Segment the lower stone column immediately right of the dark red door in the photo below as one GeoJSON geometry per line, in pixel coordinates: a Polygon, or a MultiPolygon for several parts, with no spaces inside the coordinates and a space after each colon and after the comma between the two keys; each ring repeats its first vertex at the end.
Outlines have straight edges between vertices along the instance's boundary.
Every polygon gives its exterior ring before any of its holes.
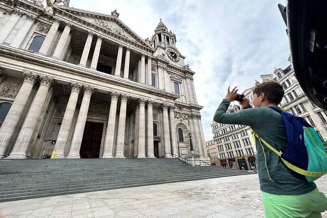
{"type": "Polygon", "coordinates": [[[112,150],[113,150],[113,138],[114,138],[115,126],[116,126],[118,97],[119,94],[117,92],[111,92],[111,103],[110,103],[108,127],[106,133],[106,142],[105,142],[105,149],[102,158],[113,158],[112,150]]]}

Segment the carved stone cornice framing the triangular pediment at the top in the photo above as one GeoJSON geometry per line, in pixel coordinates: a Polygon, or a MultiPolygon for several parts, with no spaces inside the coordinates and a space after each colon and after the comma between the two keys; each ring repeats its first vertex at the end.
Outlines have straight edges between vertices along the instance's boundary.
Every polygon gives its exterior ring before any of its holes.
{"type": "MultiPolygon", "coordinates": [[[[143,39],[141,39],[136,33],[134,33],[133,31],[131,31],[123,22],[121,22],[119,19],[117,19],[114,16],[106,16],[103,14],[98,14],[98,13],[94,13],[92,12],[92,14],[90,14],[87,11],[82,11],[82,10],[76,10],[73,8],[69,8],[68,11],[65,11],[63,7],[61,6],[53,6],[53,10],[56,13],[57,16],[61,15],[63,17],[63,19],[71,19],[71,21],[75,22],[74,24],[79,24],[81,29],[85,29],[85,27],[87,28],[93,28],[94,30],[99,31],[102,35],[105,35],[106,37],[108,37],[111,41],[119,43],[119,42],[124,42],[126,43],[126,45],[129,45],[130,47],[132,46],[135,50],[138,50],[139,52],[147,52],[148,54],[153,54],[154,49],[147,44],[143,39]],[[80,11],[80,12],[79,12],[80,11]],[[78,13],[79,12],[79,13],[78,13]],[[83,13],[82,13],[83,12],[83,13]],[[139,42],[133,42],[123,36],[120,36],[114,32],[111,32],[99,25],[96,25],[92,22],[89,22],[87,20],[84,20],[83,18],[80,18],[77,16],[78,15],[89,15],[90,17],[94,18],[94,19],[101,19],[101,20],[105,20],[105,21],[112,21],[115,22],[116,24],[118,24],[121,28],[123,28],[126,32],[128,32],[129,34],[133,35],[133,37],[137,38],[139,40],[139,42]],[[78,22],[78,23],[76,23],[78,22]],[[140,44],[143,43],[143,44],[140,44]]],[[[88,29],[87,29],[88,30],[88,29]]],[[[93,30],[93,31],[94,31],[93,30]]]]}

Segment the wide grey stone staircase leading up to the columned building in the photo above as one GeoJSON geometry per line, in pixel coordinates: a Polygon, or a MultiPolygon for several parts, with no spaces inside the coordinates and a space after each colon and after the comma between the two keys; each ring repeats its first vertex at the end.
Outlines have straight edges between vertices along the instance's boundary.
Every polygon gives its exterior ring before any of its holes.
{"type": "Polygon", "coordinates": [[[252,174],[175,158],[2,159],[0,202],[252,174]]]}

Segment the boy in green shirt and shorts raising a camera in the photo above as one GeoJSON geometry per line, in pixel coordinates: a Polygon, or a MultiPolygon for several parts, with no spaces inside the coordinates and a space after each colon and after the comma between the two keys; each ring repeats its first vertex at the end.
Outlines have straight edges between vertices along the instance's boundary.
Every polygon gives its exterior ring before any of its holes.
{"type": "MultiPolygon", "coordinates": [[[[224,124],[250,126],[262,139],[278,151],[287,147],[282,116],[268,107],[277,107],[284,96],[283,86],[273,80],[257,84],[253,89],[253,105],[243,98],[243,110],[226,113],[238,89],[228,87],[225,99],[219,105],[214,121],[224,124]]],[[[321,218],[327,210],[327,198],[314,182],[294,177],[280,157],[256,140],[256,166],[259,175],[262,204],[266,218],[321,218]]]]}

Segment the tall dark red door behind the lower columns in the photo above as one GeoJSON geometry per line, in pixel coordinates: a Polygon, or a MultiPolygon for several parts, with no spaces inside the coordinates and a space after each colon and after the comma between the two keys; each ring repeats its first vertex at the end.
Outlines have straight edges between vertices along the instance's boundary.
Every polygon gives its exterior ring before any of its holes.
{"type": "Polygon", "coordinates": [[[103,123],[90,123],[85,125],[81,144],[81,158],[99,158],[103,123]]]}

